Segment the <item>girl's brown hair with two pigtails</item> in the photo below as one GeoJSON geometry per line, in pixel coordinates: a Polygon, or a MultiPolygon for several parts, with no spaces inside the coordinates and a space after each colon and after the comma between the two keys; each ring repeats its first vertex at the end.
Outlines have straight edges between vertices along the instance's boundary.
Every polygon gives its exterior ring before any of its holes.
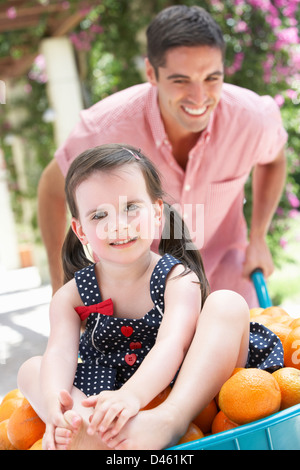
{"type": "MultiPolygon", "coordinates": [[[[79,218],[75,192],[83,181],[97,171],[109,172],[127,164],[136,165],[140,169],[153,202],[164,199],[160,175],[153,163],[140,150],[129,145],[102,145],[81,153],[69,168],[65,192],[71,216],[79,218]]],[[[161,255],[169,253],[179,259],[185,267],[183,275],[190,271],[195,272],[199,278],[202,302],[204,302],[209,293],[209,285],[199,250],[193,245],[188,229],[178,212],[167,203],[164,203],[164,215],[165,224],[159,244],[159,253],[161,255]],[[179,232],[181,236],[178,237],[179,232]]],[[[62,261],[65,282],[73,279],[76,271],[92,264],[71,227],[63,245],[62,261]]]]}

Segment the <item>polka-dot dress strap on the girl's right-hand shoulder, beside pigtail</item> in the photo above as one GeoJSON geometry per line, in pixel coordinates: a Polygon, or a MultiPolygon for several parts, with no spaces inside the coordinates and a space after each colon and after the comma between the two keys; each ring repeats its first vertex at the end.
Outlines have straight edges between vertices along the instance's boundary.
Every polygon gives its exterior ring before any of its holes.
{"type": "Polygon", "coordinates": [[[166,288],[167,276],[171,269],[181,264],[177,258],[166,253],[156,264],[150,280],[151,298],[158,310],[164,311],[164,293],[166,288]]]}

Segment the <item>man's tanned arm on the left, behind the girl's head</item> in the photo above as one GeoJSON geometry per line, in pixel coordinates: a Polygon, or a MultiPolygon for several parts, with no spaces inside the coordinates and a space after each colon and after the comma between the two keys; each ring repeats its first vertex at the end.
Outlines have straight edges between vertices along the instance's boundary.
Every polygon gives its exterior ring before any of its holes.
{"type": "Polygon", "coordinates": [[[46,248],[53,293],[63,284],[61,248],[66,234],[65,180],[56,162],[45,168],[38,187],[39,226],[46,248]]]}

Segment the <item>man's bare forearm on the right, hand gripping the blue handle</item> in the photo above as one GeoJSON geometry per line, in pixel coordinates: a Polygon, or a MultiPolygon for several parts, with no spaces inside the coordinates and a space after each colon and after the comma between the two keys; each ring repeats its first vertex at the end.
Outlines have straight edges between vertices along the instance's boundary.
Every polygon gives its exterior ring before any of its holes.
{"type": "Polygon", "coordinates": [[[257,165],[253,172],[253,205],[243,275],[249,277],[261,268],[265,277],[272,274],[274,265],[266,243],[266,235],[277,209],[286,181],[286,158],[282,149],[277,158],[266,165],[257,165]]]}

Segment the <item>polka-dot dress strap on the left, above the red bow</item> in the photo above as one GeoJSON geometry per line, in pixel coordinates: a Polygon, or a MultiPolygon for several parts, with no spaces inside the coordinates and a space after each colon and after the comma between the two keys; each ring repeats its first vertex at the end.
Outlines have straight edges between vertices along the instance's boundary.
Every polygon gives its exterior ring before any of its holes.
{"type": "Polygon", "coordinates": [[[75,273],[77,289],[84,305],[93,305],[102,301],[95,266],[91,264],[75,273]]]}

